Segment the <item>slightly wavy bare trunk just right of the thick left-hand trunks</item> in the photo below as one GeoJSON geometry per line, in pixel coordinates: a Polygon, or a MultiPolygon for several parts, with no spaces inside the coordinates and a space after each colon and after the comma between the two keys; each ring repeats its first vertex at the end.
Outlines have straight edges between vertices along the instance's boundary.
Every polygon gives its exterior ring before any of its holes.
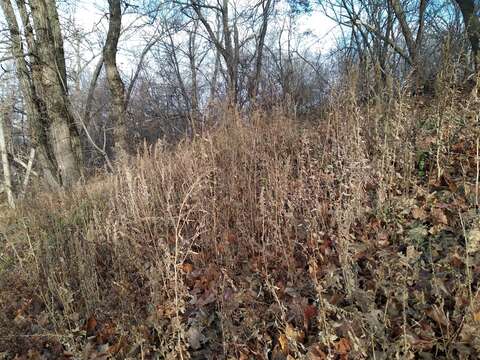
{"type": "Polygon", "coordinates": [[[108,0],[110,19],[103,60],[107,73],[108,86],[112,96],[110,118],[114,126],[114,139],[117,155],[127,154],[127,128],[125,121],[125,85],[117,67],[117,47],[122,29],[122,10],[120,0],[108,0]]]}

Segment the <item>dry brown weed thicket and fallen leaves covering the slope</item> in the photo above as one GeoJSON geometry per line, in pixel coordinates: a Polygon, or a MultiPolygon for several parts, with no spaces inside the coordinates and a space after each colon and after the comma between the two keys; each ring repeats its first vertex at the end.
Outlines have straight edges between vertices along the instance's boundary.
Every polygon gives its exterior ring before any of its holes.
{"type": "Polygon", "coordinates": [[[2,218],[0,353],[478,358],[479,103],[441,89],[225,111],[28,199],[2,218]]]}

